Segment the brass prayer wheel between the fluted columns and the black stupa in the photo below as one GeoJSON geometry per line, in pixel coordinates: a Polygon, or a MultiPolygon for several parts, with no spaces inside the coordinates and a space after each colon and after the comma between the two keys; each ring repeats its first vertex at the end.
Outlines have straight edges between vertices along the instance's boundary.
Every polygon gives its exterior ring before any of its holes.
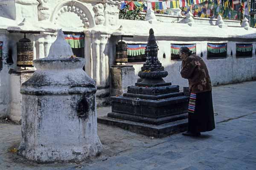
{"type": "Polygon", "coordinates": [[[123,41],[116,44],[116,62],[128,62],[127,44],[123,41]]]}

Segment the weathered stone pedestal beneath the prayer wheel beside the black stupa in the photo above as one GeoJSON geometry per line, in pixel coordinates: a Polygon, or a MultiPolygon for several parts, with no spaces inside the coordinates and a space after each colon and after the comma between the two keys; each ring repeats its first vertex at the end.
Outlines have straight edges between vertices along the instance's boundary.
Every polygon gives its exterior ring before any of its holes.
{"type": "Polygon", "coordinates": [[[122,95],[127,92],[129,85],[136,82],[134,67],[132,65],[111,66],[111,96],[122,95]]]}

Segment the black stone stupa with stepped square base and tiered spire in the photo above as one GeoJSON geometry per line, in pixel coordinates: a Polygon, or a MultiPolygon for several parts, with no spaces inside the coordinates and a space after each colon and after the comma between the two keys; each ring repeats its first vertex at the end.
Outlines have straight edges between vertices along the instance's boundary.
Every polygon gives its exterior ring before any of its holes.
{"type": "Polygon", "coordinates": [[[186,130],[189,97],[178,85],[165,82],[168,75],[157,58],[154,31],[149,30],[147,56],[135,86],[123,96],[111,97],[112,112],[98,118],[99,123],[116,125],[147,136],[163,137],[186,130]]]}

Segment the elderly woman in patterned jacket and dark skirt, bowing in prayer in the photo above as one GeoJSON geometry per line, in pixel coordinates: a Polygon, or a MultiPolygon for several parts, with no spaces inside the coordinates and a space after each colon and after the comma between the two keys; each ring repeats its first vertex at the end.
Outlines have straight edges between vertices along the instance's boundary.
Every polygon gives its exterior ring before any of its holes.
{"type": "Polygon", "coordinates": [[[189,48],[181,47],[179,51],[182,59],[181,77],[189,79],[189,124],[186,136],[200,136],[215,128],[212,85],[207,66],[201,57],[192,54],[189,48]]]}

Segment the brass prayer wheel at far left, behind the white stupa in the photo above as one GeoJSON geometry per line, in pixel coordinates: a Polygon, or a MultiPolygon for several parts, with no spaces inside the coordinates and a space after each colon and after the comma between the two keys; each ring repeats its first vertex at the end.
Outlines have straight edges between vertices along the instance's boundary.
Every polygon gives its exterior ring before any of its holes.
{"type": "Polygon", "coordinates": [[[17,66],[19,67],[32,67],[34,57],[33,42],[26,38],[20,39],[17,42],[17,66]]]}

